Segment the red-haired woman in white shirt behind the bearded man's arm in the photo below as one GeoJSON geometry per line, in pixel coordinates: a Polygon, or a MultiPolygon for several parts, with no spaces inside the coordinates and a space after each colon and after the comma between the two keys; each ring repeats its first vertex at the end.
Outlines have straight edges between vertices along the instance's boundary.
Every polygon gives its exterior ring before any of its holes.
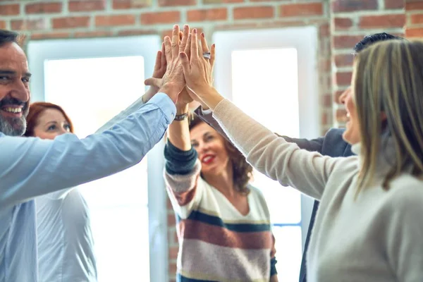
{"type": "MultiPolygon", "coordinates": [[[[73,133],[73,125],[60,106],[30,105],[25,136],[54,139],[65,133],[73,133]]],[[[35,202],[39,282],[97,281],[90,214],[78,188],[52,192],[35,202]]]]}

